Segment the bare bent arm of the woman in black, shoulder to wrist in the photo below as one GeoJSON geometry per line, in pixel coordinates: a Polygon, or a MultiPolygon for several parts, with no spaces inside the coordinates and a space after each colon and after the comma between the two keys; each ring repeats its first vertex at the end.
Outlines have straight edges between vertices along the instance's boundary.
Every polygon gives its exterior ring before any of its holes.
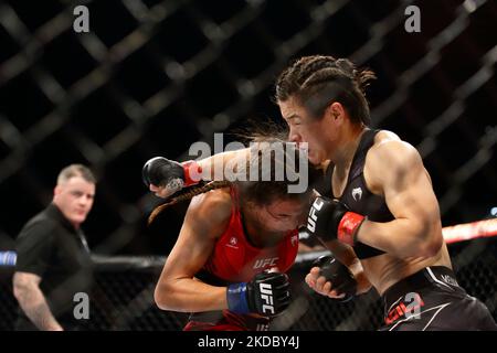
{"type": "Polygon", "coordinates": [[[419,152],[400,140],[380,143],[368,153],[364,178],[395,220],[367,220],[356,239],[401,258],[435,255],[443,244],[440,210],[419,152]]]}

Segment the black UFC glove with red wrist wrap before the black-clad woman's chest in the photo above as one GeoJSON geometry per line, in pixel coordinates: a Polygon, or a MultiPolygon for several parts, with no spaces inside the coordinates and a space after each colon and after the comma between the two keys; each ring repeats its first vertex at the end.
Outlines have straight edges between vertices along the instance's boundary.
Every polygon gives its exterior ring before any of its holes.
{"type": "Polygon", "coordinates": [[[338,200],[317,197],[309,211],[307,231],[321,240],[338,239],[353,246],[356,234],[364,221],[364,216],[350,212],[338,200]]]}

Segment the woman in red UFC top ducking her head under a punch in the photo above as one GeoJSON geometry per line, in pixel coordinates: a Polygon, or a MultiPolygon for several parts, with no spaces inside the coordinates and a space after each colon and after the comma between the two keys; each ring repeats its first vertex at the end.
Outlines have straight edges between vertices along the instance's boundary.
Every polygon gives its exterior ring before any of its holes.
{"type": "Polygon", "coordinates": [[[288,184],[214,181],[180,196],[195,195],[155,300],[162,310],[192,312],[184,330],[267,330],[271,318],[288,307],[285,271],[311,201],[310,191],[288,193],[288,184]]]}

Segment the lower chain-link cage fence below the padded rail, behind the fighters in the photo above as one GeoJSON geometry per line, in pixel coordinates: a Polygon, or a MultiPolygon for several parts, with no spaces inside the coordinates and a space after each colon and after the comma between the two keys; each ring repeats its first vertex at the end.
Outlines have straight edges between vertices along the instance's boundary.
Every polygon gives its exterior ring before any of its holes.
{"type": "MultiPolygon", "coordinates": [[[[453,266],[459,285],[480,299],[497,320],[497,265],[495,239],[475,239],[469,244],[451,245],[453,266]]],[[[273,330],[356,331],[377,330],[383,323],[383,304],[374,290],[352,301],[338,302],[313,293],[303,279],[318,253],[300,255],[289,272],[293,303],[278,317],[273,330]]],[[[162,331],[181,330],[187,313],[161,311],[154,302],[154,289],[163,258],[115,257],[97,261],[96,285],[91,295],[88,330],[162,331]]],[[[17,302],[2,270],[0,330],[12,330],[17,302]]]]}

